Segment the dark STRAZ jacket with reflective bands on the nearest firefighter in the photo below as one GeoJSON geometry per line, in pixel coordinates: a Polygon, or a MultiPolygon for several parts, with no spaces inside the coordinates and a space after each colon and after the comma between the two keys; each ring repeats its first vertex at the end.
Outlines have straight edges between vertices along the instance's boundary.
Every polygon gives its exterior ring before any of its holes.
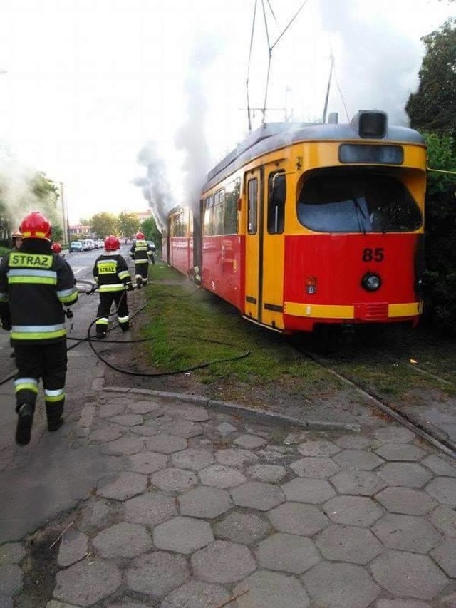
{"type": "Polygon", "coordinates": [[[43,344],[65,339],[65,312],[78,299],[73,271],[43,239],[25,239],[0,263],[0,318],[11,339],[43,344]]]}

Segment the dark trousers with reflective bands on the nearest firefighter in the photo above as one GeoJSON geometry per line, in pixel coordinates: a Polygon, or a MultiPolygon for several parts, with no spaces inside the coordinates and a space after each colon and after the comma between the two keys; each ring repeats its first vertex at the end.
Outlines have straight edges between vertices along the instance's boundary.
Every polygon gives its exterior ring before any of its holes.
{"type": "Polygon", "coordinates": [[[65,403],[66,339],[47,344],[14,341],[18,373],[14,380],[16,411],[28,403],[35,411],[38,383],[43,381],[48,426],[58,421],[65,403]]]}

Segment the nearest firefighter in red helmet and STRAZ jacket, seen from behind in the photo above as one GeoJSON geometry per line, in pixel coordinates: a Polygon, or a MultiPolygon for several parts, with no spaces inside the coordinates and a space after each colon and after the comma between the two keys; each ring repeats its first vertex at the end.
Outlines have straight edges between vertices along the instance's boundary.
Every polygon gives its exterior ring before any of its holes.
{"type": "Polygon", "coordinates": [[[66,326],[63,306],[78,299],[71,267],[51,250],[51,224],[34,211],[21,222],[24,242],[0,263],[0,319],[11,330],[18,372],[16,443],[30,441],[38,383],[43,381],[48,431],[63,424],[66,326]]]}

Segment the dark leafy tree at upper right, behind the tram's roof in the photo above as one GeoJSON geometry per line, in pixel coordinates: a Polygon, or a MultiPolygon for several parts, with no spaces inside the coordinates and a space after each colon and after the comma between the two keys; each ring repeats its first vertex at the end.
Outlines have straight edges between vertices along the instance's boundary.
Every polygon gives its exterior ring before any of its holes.
{"type": "Polygon", "coordinates": [[[448,19],[423,38],[426,53],[420,86],[405,110],[418,130],[456,136],[456,19],[448,19]]]}

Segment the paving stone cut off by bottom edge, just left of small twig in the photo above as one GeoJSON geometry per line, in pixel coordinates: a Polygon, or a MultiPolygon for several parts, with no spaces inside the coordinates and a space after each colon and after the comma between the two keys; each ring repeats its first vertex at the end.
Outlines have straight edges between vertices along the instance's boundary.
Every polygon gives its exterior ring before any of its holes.
{"type": "Polygon", "coordinates": [[[230,597],[219,584],[191,580],[167,595],[160,608],[208,608],[220,606],[230,597]]]}

